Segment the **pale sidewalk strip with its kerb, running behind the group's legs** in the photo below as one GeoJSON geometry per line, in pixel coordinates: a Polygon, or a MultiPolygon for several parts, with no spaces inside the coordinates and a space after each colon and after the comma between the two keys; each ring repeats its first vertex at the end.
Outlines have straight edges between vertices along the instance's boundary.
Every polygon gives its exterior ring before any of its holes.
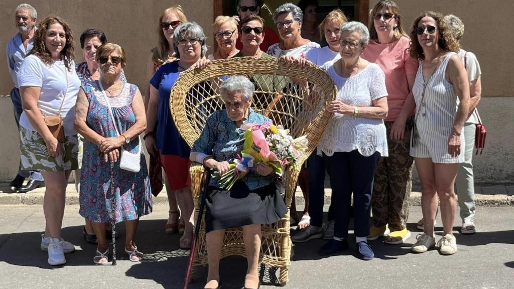
{"type": "MultiPolygon", "coordinates": [[[[9,193],[8,183],[0,183],[0,205],[43,205],[45,188],[38,188],[28,193],[9,193]],[[7,192],[7,193],[5,193],[7,192]]],[[[330,203],[332,190],[325,186],[325,204],[330,203]]],[[[413,186],[409,204],[419,206],[421,204],[421,193],[419,186],[413,186]]],[[[168,205],[166,188],[163,188],[157,197],[153,198],[155,205],[168,205]]],[[[296,203],[303,205],[302,191],[297,188],[296,203]]],[[[75,190],[75,184],[68,184],[66,189],[66,205],[79,204],[79,194],[75,190]]],[[[514,207],[514,185],[487,185],[475,186],[476,206],[488,207],[514,207]]]]}

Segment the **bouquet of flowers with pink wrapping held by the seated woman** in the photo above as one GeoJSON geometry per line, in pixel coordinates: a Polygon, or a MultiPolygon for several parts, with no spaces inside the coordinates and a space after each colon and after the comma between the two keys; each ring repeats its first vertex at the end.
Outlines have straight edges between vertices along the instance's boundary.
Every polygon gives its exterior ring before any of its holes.
{"type": "Polygon", "coordinates": [[[243,138],[243,151],[230,164],[230,170],[223,175],[217,171],[214,178],[226,190],[230,190],[238,179],[242,179],[254,164],[264,162],[273,168],[273,173],[282,176],[284,169],[294,166],[300,153],[307,149],[307,138],[293,139],[289,130],[277,127],[271,122],[247,123],[243,138]]]}

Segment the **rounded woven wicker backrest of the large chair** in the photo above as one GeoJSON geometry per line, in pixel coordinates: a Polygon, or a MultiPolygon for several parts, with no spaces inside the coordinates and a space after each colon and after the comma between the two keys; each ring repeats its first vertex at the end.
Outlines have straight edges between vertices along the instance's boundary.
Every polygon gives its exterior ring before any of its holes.
{"type": "Polygon", "coordinates": [[[278,58],[240,57],[217,60],[204,69],[188,69],[171,91],[170,110],[181,136],[191,147],[209,115],[225,109],[219,84],[226,76],[245,75],[255,84],[252,109],[282,124],[293,137],[306,135],[309,150],[317,146],[331,118],[325,108],[335,99],[336,87],[326,72],[278,58]]]}

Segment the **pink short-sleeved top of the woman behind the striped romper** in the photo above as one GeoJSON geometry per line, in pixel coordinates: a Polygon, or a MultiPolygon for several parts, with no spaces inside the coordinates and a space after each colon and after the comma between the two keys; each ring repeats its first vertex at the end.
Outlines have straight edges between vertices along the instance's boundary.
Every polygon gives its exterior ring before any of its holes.
{"type": "MultiPolygon", "coordinates": [[[[370,40],[362,53],[363,59],[378,64],[386,75],[389,113],[385,121],[396,120],[409,94],[407,75],[415,76],[417,73],[418,61],[410,56],[409,48],[410,40],[407,37],[389,44],[370,40]]],[[[414,111],[411,115],[414,115],[414,111]]]]}

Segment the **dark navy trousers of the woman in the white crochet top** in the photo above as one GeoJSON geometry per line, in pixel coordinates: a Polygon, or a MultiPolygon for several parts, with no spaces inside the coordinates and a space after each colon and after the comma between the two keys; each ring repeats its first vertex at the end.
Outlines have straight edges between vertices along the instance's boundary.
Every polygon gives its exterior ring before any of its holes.
{"type": "Polygon", "coordinates": [[[330,174],[332,191],[336,192],[336,223],[334,236],[346,238],[350,224],[350,206],[354,196],[354,234],[367,237],[370,234],[371,194],[373,178],[380,153],[363,156],[357,150],[323,154],[330,174]]]}

